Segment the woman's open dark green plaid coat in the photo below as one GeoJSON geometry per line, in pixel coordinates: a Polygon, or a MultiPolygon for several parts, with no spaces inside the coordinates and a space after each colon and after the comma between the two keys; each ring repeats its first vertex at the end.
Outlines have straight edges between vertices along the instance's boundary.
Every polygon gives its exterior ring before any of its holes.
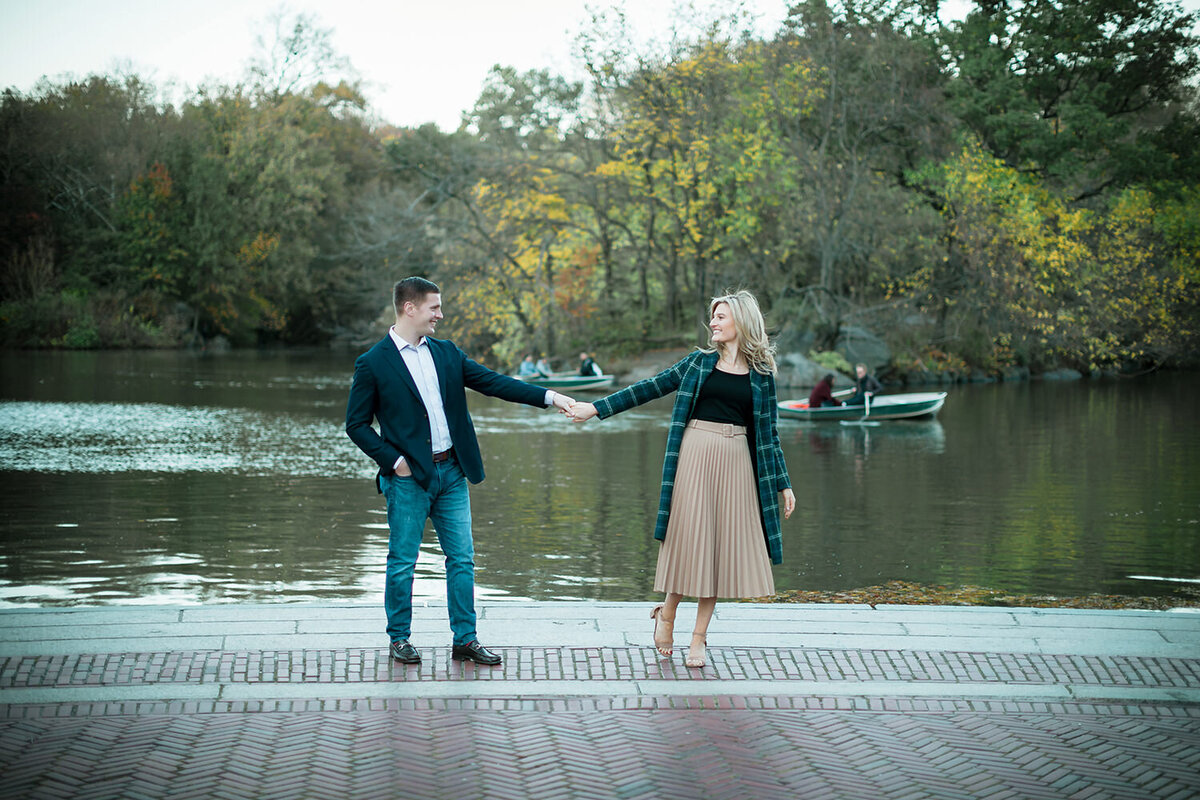
{"type": "MultiPolygon", "coordinates": [[[[676,392],[674,409],[671,411],[671,427],[667,431],[667,455],[662,461],[662,494],[659,495],[659,517],[654,525],[654,539],[664,540],[667,535],[667,519],[671,516],[671,492],[674,489],[674,474],[679,464],[679,445],[683,432],[691,419],[700,387],[716,366],[719,354],[697,350],[689,354],[674,366],[664,369],[653,378],[640,380],[632,386],[601,397],[593,404],[600,417],[629,410],[635,405],[648,403],[670,392],[676,392]]],[[[779,408],[775,405],[775,377],[750,371],[750,391],[754,399],[754,431],[749,431],[750,449],[754,455],[755,475],[758,480],[758,509],[762,511],[762,530],[767,540],[767,554],[772,564],[784,560],[784,537],[779,525],[779,493],[792,487],[787,479],[787,464],[784,463],[784,450],[779,446],[776,420],[779,408]]]]}

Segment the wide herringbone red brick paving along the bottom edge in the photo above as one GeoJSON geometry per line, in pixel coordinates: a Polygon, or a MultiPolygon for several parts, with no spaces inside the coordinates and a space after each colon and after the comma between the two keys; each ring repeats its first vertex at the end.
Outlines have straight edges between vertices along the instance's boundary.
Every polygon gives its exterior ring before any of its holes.
{"type": "Polygon", "coordinates": [[[1196,798],[1193,717],[766,710],[0,722],[4,798],[1196,798]]]}

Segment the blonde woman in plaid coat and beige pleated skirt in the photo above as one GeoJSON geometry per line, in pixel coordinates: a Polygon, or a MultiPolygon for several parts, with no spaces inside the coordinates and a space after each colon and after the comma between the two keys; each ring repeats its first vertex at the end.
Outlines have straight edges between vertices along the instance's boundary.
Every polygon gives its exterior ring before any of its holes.
{"type": "Polygon", "coordinates": [[[608,417],[676,392],[662,464],[662,493],[654,537],[659,549],[654,646],[673,651],[676,610],[696,597],[696,627],[685,663],[703,667],[708,624],[718,597],[775,593],[770,565],[782,561],[779,505],[792,516],[775,429],[775,354],[758,302],[749,291],[709,303],[712,347],[668,369],[598,399],[575,403],[576,422],[608,417]]]}

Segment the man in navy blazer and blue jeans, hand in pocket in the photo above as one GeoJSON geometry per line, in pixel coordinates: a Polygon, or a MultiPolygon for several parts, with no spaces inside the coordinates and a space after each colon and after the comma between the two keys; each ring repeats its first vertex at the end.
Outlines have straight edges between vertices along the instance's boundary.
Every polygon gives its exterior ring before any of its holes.
{"type": "Polygon", "coordinates": [[[484,480],[466,387],[514,403],[565,413],[575,402],[479,365],[448,339],[432,338],[442,320],[437,284],[404,278],[392,289],[396,324],[354,362],[346,433],[379,464],[376,487],[388,503],[388,572],[384,608],[391,657],[419,663],[408,637],[413,572],[425,521],[445,554],[446,603],[454,633],[451,657],[496,666],[500,657],[475,632],[475,548],[467,481],[484,480]],[[379,421],[379,432],[371,427],[379,421]]]}

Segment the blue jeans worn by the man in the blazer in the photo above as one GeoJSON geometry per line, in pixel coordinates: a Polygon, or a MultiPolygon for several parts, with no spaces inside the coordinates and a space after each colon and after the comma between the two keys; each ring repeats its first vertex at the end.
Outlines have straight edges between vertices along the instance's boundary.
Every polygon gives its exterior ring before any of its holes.
{"type": "Polygon", "coordinates": [[[425,521],[433,522],[445,554],[446,604],[454,644],[475,639],[475,545],[470,537],[470,494],[467,477],[454,458],[433,465],[430,488],[412,477],[383,479],[388,500],[388,578],[383,606],[388,638],[407,639],[413,627],[413,572],[421,549],[425,521]]]}

